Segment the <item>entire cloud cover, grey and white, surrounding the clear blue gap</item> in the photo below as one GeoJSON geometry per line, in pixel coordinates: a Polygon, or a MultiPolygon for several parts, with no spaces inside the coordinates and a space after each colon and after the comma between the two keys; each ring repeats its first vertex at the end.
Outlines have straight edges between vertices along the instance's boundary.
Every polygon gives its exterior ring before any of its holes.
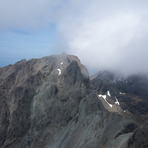
{"type": "Polygon", "coordinates": [[[90,70],[148,73],[147,0],[3,2],[0,28],[36,28],[52,22],[66,52],[77,55],[90,70]]]}

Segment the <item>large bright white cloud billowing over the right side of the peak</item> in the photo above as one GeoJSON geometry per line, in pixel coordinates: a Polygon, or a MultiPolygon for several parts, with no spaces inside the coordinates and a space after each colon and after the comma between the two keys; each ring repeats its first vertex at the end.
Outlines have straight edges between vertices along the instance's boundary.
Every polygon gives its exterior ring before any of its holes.
{"type": "Polygon", "coordinates": [[[146,1],[83,2],[71,1],[59,21],[67,52],[92,71],[148,73],[146,1]]]}

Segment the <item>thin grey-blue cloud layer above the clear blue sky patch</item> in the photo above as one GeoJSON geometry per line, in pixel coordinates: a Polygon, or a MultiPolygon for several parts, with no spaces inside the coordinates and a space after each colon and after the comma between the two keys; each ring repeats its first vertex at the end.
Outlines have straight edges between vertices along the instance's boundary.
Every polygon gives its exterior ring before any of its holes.
{"type": "Polygon", "coordinates": [[[1,0],[0,30],[36,30],[54,20],[59,0],[1,0]]]}

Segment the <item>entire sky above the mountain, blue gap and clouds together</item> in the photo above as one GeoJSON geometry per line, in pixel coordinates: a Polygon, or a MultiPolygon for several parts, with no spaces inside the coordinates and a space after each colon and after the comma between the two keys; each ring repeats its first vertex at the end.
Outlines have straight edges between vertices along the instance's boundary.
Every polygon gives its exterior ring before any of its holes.
{"type": "Polygon", "coordinates": [[[0,67],[63,52],[90,72],[148,74],[148,1],[0,0],[0,67]]]}

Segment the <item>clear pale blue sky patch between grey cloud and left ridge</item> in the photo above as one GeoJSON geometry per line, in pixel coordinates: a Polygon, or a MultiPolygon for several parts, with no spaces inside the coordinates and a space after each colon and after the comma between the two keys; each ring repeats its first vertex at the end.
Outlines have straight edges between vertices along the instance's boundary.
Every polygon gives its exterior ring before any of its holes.
{"type": "Polygon", "coordinates": [[[38,31],[0,31],[0,66],[13,64],[21,59],[39,58],[62,52],[56,26],[38,31]]]}

